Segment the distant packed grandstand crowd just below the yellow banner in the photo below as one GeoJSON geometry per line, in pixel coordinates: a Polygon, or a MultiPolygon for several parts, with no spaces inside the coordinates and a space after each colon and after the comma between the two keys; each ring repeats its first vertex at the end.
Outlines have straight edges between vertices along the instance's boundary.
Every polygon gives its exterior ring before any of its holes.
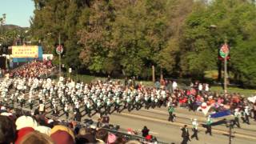
{"type": "Polygon", "coordinates": [[[52,62],[49,60],[34,60],[10,72],[10,77],[41,78],[51,74],[54,70],[52,62]]]}

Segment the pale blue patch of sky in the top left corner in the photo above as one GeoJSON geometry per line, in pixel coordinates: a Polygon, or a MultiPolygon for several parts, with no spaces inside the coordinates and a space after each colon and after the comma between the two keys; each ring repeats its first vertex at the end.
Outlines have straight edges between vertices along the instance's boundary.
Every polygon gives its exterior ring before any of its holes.
{"type": "Polygon", "coordinates": [[[33,11],[32,0],[0,0],[0,18],[6,14],[6,24],[29,27],[33,11]]]}

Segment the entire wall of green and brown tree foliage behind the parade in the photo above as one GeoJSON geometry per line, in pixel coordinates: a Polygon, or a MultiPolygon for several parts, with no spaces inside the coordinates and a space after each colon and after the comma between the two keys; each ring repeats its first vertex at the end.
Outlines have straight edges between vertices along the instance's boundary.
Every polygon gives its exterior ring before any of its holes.
{"type": "Polygon", "coordinates": [[[230,45],[234,80],[255,85],[255,3],[244,0],[34,0],[35,39],[54,51],[62,35],[67,66],[100,74],[202,77],[230,45]]]}

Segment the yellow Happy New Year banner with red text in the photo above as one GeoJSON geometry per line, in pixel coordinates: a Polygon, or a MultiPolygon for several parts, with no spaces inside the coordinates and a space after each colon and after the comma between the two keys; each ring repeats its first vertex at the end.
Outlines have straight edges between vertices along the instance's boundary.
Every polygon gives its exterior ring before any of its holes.
{"type": "Polygon", "coordinates": [[[38,46],[12,46],[13,58],[38,58],[38,46]]]}

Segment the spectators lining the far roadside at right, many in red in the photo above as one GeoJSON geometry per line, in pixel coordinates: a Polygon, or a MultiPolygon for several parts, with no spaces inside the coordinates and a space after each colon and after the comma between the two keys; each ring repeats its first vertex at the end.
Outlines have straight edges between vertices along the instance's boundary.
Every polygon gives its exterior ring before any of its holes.
{"type": "MultiPolygon", "coordinates": [[[[191,82],[190,86],[181,88],[174,81],[162,80],[156,82],[157,89],[165,89],[170,95],[170,102],[174,106],[182,106],[188,110],[196,111],[202,103],[210,106],[210,112],[218,112],[221,110],[235,110],[241,112],[241,116],[245,117],[249,113],[251,118],[256,121],[256,101],[250,101],[245,95],[239,93],[218,93],[210,90],[207,83],[198,81],[191,82]],[[247,109],[247,110],[246,110],[247,109]]],[[[254,97],[254,95],[251,95],[254,97]]]]}

